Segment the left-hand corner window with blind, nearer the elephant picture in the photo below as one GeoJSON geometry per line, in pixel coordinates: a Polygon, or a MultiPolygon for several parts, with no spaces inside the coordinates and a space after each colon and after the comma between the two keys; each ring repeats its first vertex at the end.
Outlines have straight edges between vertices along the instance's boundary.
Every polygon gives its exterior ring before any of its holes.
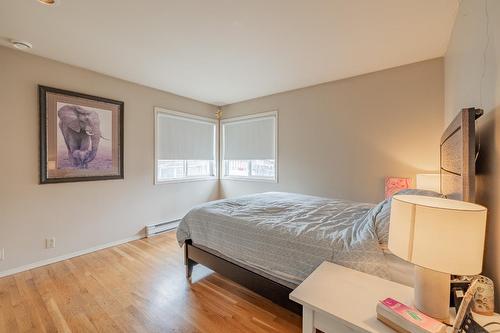
{"type": "Polygon", "coordinates": [[[156,183],[215,179],[216,121],[155,108],[156,183]]]}

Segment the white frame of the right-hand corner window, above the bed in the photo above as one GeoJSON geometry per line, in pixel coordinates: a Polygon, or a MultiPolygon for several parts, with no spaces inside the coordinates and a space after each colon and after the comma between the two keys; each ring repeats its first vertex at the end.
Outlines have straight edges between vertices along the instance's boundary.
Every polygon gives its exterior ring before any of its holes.
{"type": "MultiPolygon", "coordinates": [[[[249,182],[265,182],[265,183],[278,183],[278,170],[279,170],[279,163],[278,163],[278,110],[272,110],[272,111],[267,111],[267,112],[261,112],[261,113],[255,113],[255,114],[250,114],[247,116],[241,116],[241,117],[233,117],[233,118],[225,118],[220,120],[220,179],[221,180],[235,180],[235,181],[249,181],[249,182]],[[224,124],[226,123],[232,123],[232,122],[245,122],[245,121],[252,121],[255,118],[264,118],[264,117],[274,117],[274,177],[261,177],[261,176],[226,176],[226,163],[224,159],[224,124]]],[[[228,160],[229,161],[229,160],[228,160]]],[[[248,160],[248,167],[249,167],[249,174],[251,174],[252,169],[251,169],[251,160],[248,160]]]]}

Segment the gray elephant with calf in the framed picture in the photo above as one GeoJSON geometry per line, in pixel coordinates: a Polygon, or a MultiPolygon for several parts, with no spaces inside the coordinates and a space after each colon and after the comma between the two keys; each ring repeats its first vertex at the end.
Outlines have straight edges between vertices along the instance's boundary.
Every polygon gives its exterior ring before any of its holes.
{"type": "Polygon", "coordinates": [[[65,105],[57,111],[57,116],[69,160],[74,167],[87,169],[102,138],[99,114],[78,105],[65,105]]]}

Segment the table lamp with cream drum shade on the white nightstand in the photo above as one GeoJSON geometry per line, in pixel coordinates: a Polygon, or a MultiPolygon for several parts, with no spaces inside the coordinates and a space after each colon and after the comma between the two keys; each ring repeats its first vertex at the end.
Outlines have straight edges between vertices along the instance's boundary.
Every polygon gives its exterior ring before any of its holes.
{"type": "Polygon", "coordinates": [[[450,274],[482,270],[486,208],[470,202],[395,195],[389,250],[415,264],[415,307],[435,319],[449,317],[450,274]]]}

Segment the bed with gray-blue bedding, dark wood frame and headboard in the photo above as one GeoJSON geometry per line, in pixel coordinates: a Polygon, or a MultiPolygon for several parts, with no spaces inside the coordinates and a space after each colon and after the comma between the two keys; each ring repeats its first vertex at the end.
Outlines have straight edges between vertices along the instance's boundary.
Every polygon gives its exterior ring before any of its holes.
{"type": "MultiPolygon", "coordinates": [[[[441,139],[441,192],[453,198],[474,198],[474,121],[480,113],[463,110],[441,139]]],[[[261,193],[194,207],[181,220],[177,240],[188,278],[202,264],[300,314],[288,295],[324,260],[411,283],[412,267],[384,250],[389,212],[390,199],[373,205],[261,193]]]]}

